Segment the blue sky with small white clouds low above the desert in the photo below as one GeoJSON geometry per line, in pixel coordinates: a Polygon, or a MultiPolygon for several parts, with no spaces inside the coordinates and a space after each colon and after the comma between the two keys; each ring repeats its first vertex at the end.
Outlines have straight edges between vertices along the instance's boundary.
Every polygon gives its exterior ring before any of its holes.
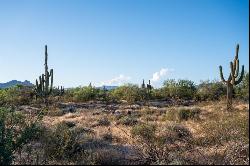
{"type": "Polygon", "coordinates": [[[0,0],[0,82],[35,79],[44,45],[55,85],[161,86],[249,68],[248,0],[0,0]]]}

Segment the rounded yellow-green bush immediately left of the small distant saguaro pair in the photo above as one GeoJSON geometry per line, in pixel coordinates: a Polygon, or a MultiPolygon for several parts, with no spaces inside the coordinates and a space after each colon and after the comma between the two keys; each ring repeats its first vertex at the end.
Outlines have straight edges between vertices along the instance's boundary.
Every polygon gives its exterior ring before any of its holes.
{"type": "Polygon", "coordinates": [[[130,104],[143,99],[141,89],[133,84],[120,86],[112,90],[110,95],[115,100],[126,100],[130,104]]]}

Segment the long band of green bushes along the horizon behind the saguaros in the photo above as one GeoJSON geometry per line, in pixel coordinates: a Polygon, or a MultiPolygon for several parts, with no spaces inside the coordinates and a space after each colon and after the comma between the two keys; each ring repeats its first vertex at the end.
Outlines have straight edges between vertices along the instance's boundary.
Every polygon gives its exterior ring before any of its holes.
{"type": "MultiPolygon", "coordinates": [[[[61,100],[65,102],[86,102],[91,100],[135,103],[146,100],[196,100],[215,101],[226,98],[226,85],[220,81],[201,81],[196,85],[191,80],[164,81],[161,88],[152,88],[150,95],[145,88],[136,84],[125,84],[112,90],[98,89],[92,85],[65,90],[61,100]]],[[[57,97],[57,88],[53,89],[50,101],[57,97]],[[53,95],[54,94],[54,95],[53,95]]],[[[249,73],[245,73],[243,81],[234,88],[233,97],[249,100],[249,73]]],[[[0,90],[0,105],[23,105],[35,102],[32,87],[15,86],[0,90]]]]}

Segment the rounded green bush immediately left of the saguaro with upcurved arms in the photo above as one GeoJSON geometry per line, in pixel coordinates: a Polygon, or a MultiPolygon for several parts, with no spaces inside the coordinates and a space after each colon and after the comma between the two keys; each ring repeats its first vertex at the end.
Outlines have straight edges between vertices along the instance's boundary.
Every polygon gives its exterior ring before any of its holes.
{"type": "Polygon", "coordinates": [[[202,81],[197,88],[196,99],[205,100],[219,100],[227,93],[226,86],[218,81],[202,81]]]}

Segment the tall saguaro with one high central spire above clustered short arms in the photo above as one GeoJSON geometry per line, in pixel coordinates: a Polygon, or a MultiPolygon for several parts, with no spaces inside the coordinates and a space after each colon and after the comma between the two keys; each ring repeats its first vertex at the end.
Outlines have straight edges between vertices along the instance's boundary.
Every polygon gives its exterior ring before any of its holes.
{"type": "Polygon", "coordinates": [[[36,96],[44,99],[46,106],[48,106],[48,96],[52,93],[53,90],[53,69],[48,71],[48,53],[47,45],[45,45],[45,63],[44,69],[45,73],[42,76],[39,76],[39,80],[36,80],[36,96]]]}

